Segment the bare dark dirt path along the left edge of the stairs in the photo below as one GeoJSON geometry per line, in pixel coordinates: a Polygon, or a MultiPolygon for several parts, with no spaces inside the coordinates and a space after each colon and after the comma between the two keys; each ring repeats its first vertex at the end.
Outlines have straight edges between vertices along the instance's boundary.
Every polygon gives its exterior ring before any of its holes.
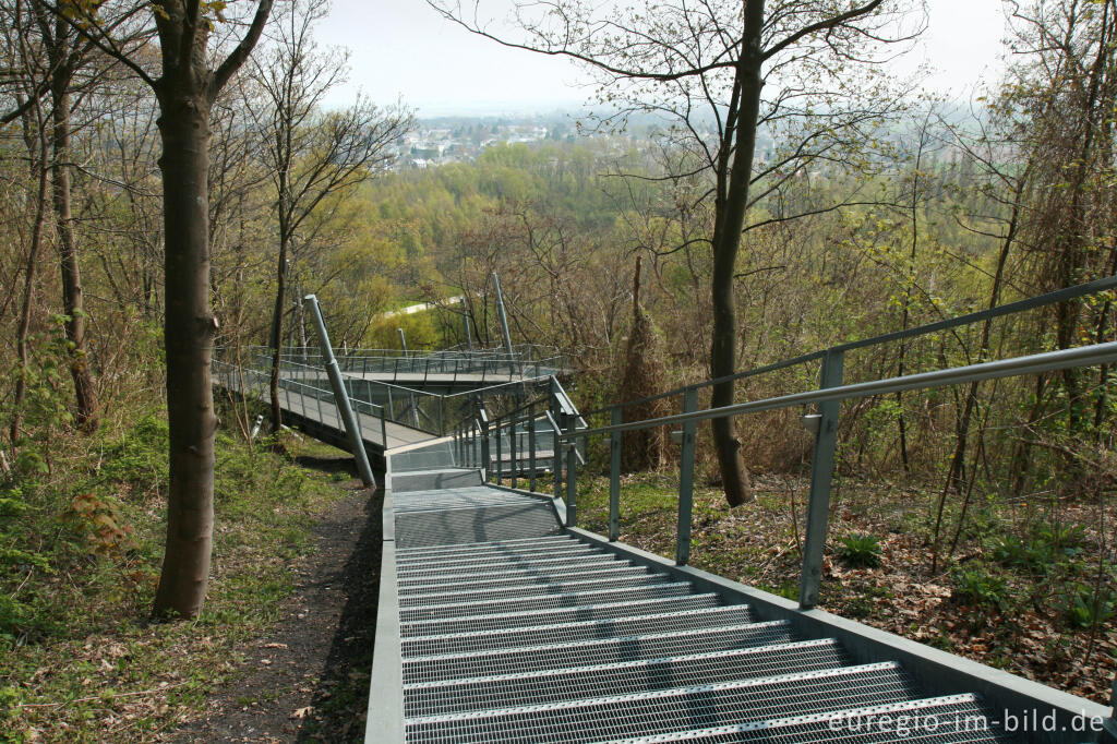
{"type": "MultiPolygon", "coordinates": [[[[350,460],[351,462],[352,460],[350,460]]],[[[306,462],[335,469],[325,459],[306,462]]],[[[349,486],[275,632],[240,649],[246,675],[214,688],[180,742],[360,742],[380,585],[381,494],[349,486]]]]}

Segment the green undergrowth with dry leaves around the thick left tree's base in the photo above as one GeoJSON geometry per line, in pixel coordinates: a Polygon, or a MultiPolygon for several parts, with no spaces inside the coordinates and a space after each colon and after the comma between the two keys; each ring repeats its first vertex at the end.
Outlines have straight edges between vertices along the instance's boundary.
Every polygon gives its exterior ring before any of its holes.
{"type": "Polygon", "coordinates": [[[316,515],[345,495],[275,443],[218,435],[211,580],[192,621],[147,619],[166,519],[160,416],[0,481],[0,741],[152,741],[236,673],[238,643],[294,589],[316,515]]]}

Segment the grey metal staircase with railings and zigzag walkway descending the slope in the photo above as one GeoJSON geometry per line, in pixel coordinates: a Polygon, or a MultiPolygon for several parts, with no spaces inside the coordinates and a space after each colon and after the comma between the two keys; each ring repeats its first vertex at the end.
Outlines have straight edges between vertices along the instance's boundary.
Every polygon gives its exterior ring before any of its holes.
{"type": "MultiPolygon", "coordinates": [[[[345,441],[344,423],[355,452],[379,445],[384,468],[366,741],[1117,744],[1104,706],[814,609],[841,401],[1117,363],[1111,342],[844,383],[846,352],[1114,288],[1109,277],[735,375],[820,362],[818,390],[704,410],[697,392],[713,381],[689,385],[656,397],[679,398],[680,413],[643,421],[624,419],[631,403],[583,417],[537,364],[536,376],[509,365],[507,334],[508,359],[432,354],[392,361],[393,382],[375,380],[388,363],[365,354],[338,364],[318,316],[331,388],[287,362],[284,408],[327,441],[345,441]],[[418,374],[417,364],[423,383],[442,384],[448,364],[455,384],[469,382],[474,364],[478,384],[490,365],[510,381],[465,392],[397,385],[400,368],[418,374]],[[686,565],[698,422],[801,407],[818,413],[803,417],[815,443],[799,601],[686,565]],[[609,423],[585,421],[607,413],[609,423]],[[420,418],[437,427],[420,430],[420,418]],[[617,542],[621,435],[652,427],[679,427],[675,561],[617,542]],[[576,527],[577,471],[593,437],[608,437],[608,536],[576,527]],[[554,497],[535,493],[547,475],[554,497]]],[[[259,394],[259,373],[216,372],[230,391],[259,394]]]]}

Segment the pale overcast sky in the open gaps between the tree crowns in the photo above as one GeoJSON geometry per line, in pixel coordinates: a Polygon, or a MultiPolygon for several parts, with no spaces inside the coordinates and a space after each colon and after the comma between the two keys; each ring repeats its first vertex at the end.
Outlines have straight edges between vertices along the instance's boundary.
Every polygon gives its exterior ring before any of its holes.
{"type": "MultiPolygon", "coordinates": [[[[507,0],[487,3],[499,8],[507,0]]],[[[982,75],[995,77],[1000,69],[1002,2],[928,4],[927,32],[901,66],[906,70],[925,59],[939,70],[933,87],[968,98],[982,75]]],[[[423,0],[333,0],[318,38],[352,54],[351,83],[332,96],[336,105],[351,101],[356,88],[376,103],[402,97],[420,116],[548,112],[589,98],[589,89],[579,87],[585,78],[572,64],[475,37],[442,20],[423,0]]]]}

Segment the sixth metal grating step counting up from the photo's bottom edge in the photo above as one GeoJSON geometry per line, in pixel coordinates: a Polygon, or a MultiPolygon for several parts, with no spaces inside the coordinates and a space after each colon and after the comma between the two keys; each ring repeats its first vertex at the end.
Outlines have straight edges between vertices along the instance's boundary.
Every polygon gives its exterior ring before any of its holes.
{"type": "Polygon", "coordinates": [[[676,610],[696,610],[703,607],[716,607],[720,603],[717,594],[688,594],[686,597],[667,597],[660,599],[636,600],[630,602],[611,602],[607,604],[590,604],[585,607],[564,607],[550,610],[531,610],[526,612],[506,612],[502,614],[485,614],[472,618],[447,618],[443,620],[424,620],[422,622],[400,623],[400,636],[435,636],[443,633],[464,633],[480,630],[497,630],[499,628],[522,628],[546,623],[571,622],[573,620],[601,620],[604,618],[624,618],[631,614],[652,614],[672,612],[676,610]]]}

